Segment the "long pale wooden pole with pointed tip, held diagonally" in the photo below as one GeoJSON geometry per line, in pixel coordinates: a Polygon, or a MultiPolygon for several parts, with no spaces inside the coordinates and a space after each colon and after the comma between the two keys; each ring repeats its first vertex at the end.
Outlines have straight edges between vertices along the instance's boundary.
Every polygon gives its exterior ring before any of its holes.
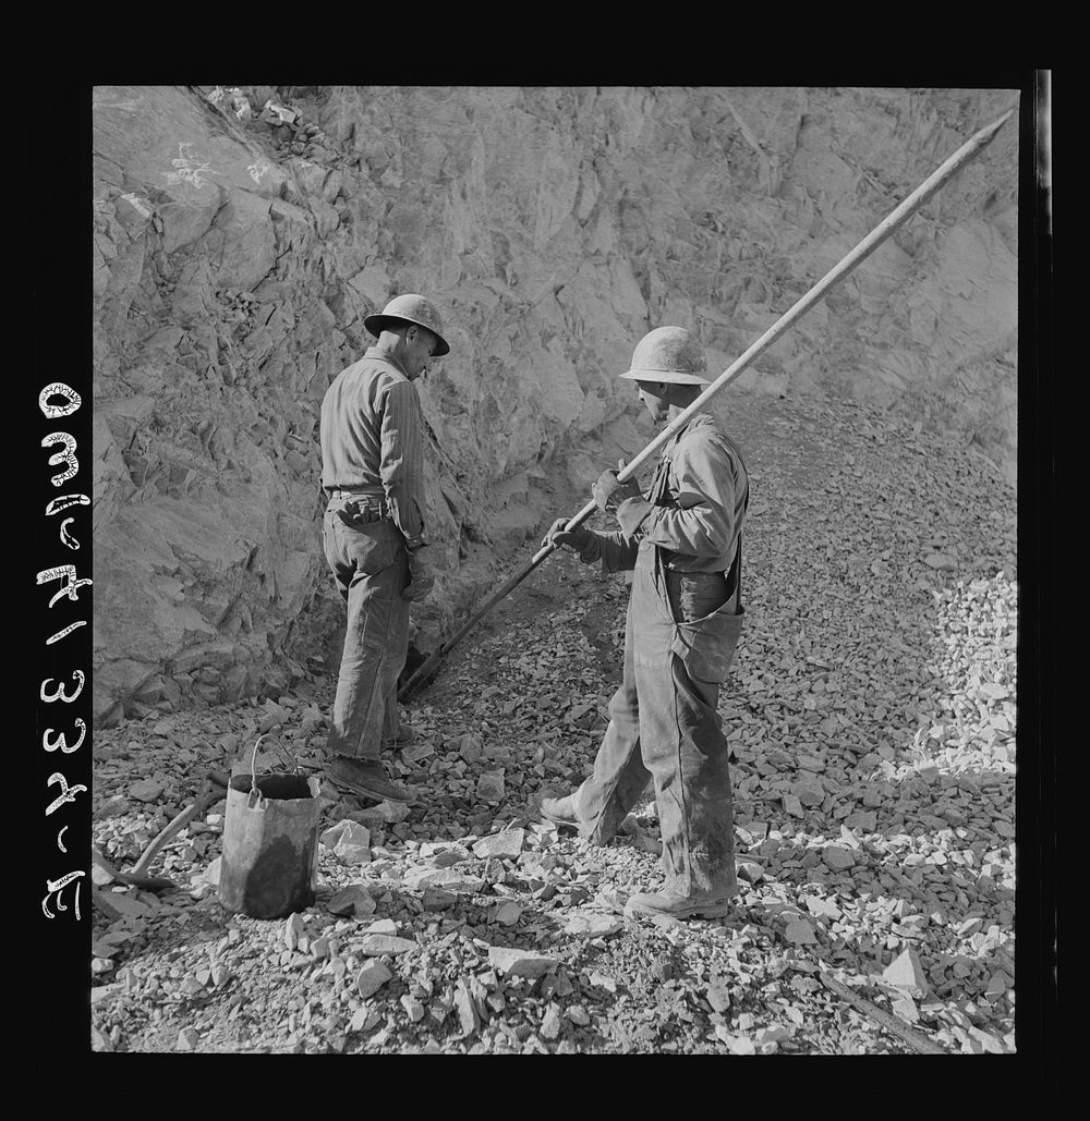
{"type": "MultiPolygon", "coordinates": [[[[623,482],[630,479],[639,466],[647,462],[668,439],[682,429],[690,419],[708,404],[724,386],[735,380],[748,365],[759,358],[776,340],[792,327],[797,319],[809,312],[832,286],[842,280],[857,265],[866,260],[890,234],[899,230],[900,226],[920,210],[921,206],[943,186],[949,179],[958,174],[961,168],[974,156],[986,148],[1006,123],[1013,109],[1008,109],[997,121],[982,128],[971,139],[967,140],[929,178],[924,179],[916,189],[908,195],[900,205],[884,219],[875,229],[856,245],[851,252],[844,257],[839,265],[834,266],[818,281],[793,307],[784,314],[735,362],[724,370],[701,395],[678,414],[666,427],[629,463],[618,473],[617,478],[623,482]]],[[[567,521],[567,529],[574,529],[582,525],[598,507],[594,502],[588,502],[582,510],[567,521]]],[[[398,700],[408,700],[436,670],[438,663],[446,657],[454,646],[469,633],[477,623],[488,614],[492,608],[499,603],[508,593],[520,584],[544,559],[555,549],[555,545],[545,545],[530,558],[529,563],[511,576],[499,591],[495,592],[489,600],[478,609],[477,612],[462,627],[449,638],[426,661],[424,661],[415,674],[405,683],[398,693],[398,700]]]]}

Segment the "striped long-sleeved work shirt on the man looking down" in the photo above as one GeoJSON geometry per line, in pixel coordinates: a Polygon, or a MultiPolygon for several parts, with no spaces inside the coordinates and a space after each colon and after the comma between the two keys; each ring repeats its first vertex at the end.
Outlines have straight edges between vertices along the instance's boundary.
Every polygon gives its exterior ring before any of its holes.
{"type": "Polygon", "coordinates": [[[384,346],[342,370],[322,399],[322,485],[385,494],[409,548],[424,543],[424,417],[384,346]]]}

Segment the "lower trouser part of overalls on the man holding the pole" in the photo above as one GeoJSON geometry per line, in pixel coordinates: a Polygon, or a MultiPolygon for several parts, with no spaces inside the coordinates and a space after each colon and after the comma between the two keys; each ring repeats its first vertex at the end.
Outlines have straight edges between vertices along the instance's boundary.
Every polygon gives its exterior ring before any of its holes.
{"type": "Polygon", "coordinates": [[[666,569],[643,543],[632,575],[620,688],[592,775],[574,796],[584,834],[606,844],[654,784],[664,890],[733,896],[733,806],[717,708],[741,630],[722,573],[666,569]]]}

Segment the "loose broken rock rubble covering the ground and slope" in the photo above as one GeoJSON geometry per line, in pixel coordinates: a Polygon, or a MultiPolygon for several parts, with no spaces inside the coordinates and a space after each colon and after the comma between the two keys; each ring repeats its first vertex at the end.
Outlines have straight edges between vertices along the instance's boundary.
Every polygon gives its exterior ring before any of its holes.
{"type": "MultiPolygon", "coordinates": [[[[823,969],[950,1051],[1014,1048],[1013,491],[908,420],[735,404],[752,502],[720,703],[733,912],[625,917],[659,882],[649,796],[604,849],[534,813],[589,772],[620,676],[622,577],[558,555],[406,708],[416,742],[392,769],[413,806],[323,786],[312,907],[220,907],[225,803],[157,861],[176,891],[96,878],[95,1049],[911,1049],[823,969]]],[[[331,691],[303,677],[96,733],[95,843],[131,865],[205,770],[249,768],[262,732],[318,770],[331,691]]],[[[258,769],[283,769],[266,743],[258,769]]]]}

